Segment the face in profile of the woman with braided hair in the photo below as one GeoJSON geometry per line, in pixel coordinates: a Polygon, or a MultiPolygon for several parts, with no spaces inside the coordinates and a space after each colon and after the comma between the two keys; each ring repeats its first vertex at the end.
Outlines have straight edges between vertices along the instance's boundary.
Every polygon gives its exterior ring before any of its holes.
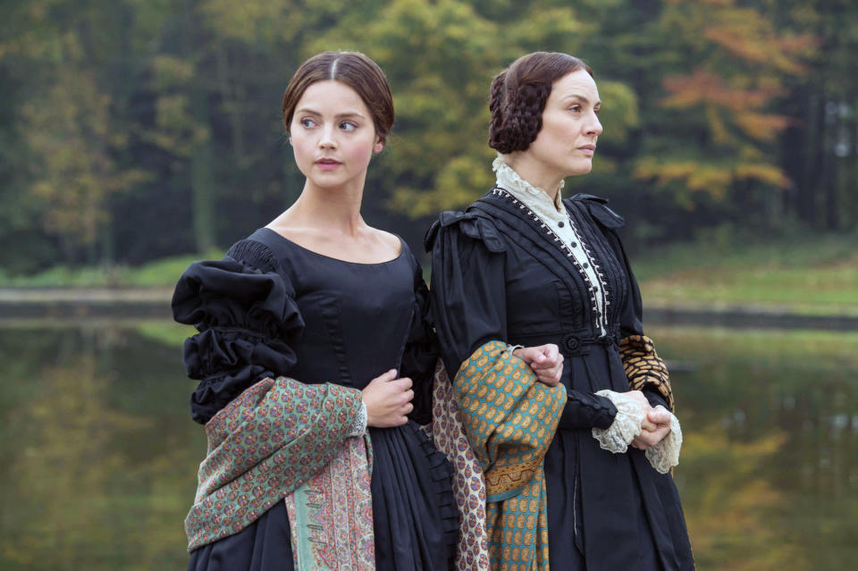
{"type": "Polygon", "coordinates": [[[590,172],[601,133],[600,105],[596,82],[585,70],[556,80],[545,102],[543,128],[525,153],[558,180],[590,172]]]}

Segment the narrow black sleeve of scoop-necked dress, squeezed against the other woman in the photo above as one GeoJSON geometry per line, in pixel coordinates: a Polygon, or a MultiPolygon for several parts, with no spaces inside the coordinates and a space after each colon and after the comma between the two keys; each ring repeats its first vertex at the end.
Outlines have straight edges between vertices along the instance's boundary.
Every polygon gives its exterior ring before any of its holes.
{"type": "Polygon", "coordinates": [[[402,356],[400,376],[409,377],[414,382],[414,411],[409,416],[417,424],[429,424],[432,421],[432,383],[438,360],[438,340],[423,270],[416,259],[413,265],[415,312],[402,356]]]}

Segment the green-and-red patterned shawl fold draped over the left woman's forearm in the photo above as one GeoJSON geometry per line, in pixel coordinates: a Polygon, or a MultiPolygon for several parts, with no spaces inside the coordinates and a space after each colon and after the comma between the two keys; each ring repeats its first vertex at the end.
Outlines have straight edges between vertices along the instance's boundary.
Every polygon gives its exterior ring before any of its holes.
{"type": "Polygon", "coordinates": [[[242,529],[320,472],[360,410],[359,390],[287,377],[257,382],[207,424],[208,451],[185,518],[188,550],[242,529]]]}

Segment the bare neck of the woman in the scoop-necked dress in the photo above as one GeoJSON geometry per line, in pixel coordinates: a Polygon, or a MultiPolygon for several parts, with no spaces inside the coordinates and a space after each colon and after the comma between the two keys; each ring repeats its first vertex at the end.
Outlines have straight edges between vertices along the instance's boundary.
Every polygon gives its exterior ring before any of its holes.
{"type": "Polygon", "coordinates": [[[322,189],[307,181],[301,196],[283,213],[286,220],[282,222],[356,236],[366,227],[360,215],[363,195],[364,181],[335,189],[322,189]]]}

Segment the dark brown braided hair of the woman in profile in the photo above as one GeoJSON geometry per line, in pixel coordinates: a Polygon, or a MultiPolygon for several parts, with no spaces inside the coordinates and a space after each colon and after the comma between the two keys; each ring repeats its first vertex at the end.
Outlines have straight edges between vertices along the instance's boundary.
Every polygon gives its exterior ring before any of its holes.
{"type": "Polygon", "coordinates": [[[593,70],[576,57],[559,52],[522,55],[492,80],[489,147],[507,155],[525,151],[543,128],[551,84],[572,71],[593,70]]]}

